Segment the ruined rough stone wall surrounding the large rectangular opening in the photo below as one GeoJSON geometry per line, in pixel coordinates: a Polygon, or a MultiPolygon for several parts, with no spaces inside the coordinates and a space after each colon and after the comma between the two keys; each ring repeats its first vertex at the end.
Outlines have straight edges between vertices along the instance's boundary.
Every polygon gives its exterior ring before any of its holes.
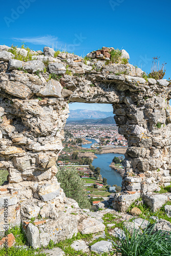
{"type": "MultiPolygon", "coordinates": [[[[86,61],[66,53],[53,58],[51,50],[24,63],[0,52],[0,167],[9,172],[9,183],[0,187],[1,200],[8,197],[17,209],[23,202],[25,209],[26,204],[61,196],[55,163],[62,150],[68,103],[87,102],[113,104],[119,133],[128,142],[122,193],[113,206],[124,211],[140,195],[148,201],[148,193],[171,181],[169,82],[145,80],[143,71],[129,63],[106,62],[109,48],[100,53],[101,60],[96,51],[86,61]],[[47,59],[56,80],[48,80],[48,72],[39,73],[47,59]]],[[[23,210],[22,218],[27,214],[23,210]]],[[[19,221],[15,216],[13,223],[19,221]]]]}

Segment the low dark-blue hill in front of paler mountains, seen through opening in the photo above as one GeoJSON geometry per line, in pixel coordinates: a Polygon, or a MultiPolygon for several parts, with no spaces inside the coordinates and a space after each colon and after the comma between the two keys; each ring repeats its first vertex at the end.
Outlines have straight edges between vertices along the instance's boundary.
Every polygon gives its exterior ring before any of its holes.
{"type": "Polygon", "coordinates": [[[102,119],[84,119],[84,120],[72,120],[69,121],[70,123],[81,123],[81,124],[86,124],[86,123],[91,123],[91,124],[115,124],[115,119],[113,116],[102,118],[102,119]]]}

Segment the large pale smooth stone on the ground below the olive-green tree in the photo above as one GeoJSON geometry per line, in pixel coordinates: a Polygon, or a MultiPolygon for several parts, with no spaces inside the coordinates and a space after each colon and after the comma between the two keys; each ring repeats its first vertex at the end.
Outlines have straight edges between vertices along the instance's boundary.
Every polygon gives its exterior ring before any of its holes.
{"type": "Polygon", "coordinates": [[[83,220],[82,222],[82,234],[90,234],[90,233],[97,233],[99,231],[103,231],[105,229],[105,225],[100,221],[88,218],[87,220],[83,220]]]}

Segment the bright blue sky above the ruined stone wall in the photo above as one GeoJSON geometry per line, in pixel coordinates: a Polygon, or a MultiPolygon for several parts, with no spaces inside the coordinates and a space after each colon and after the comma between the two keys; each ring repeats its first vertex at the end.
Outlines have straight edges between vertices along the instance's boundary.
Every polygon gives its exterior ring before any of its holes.
{"type": "Polygon", "coordinates": [[[170,77],[170,0],[6,0],[1,3],[0,44],[24,41],[33,50],[44,46],[78,55],[102,46],[125,49],[130,63],[149,73],[152,58],[166,62],[170,77]]]}

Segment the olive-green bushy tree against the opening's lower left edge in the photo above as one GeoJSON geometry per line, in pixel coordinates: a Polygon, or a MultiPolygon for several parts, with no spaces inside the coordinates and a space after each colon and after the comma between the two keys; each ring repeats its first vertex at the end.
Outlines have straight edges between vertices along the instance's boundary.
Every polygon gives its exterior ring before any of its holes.
{"type": "Polygon", "coordinates": [[[79,177],[74,167],[60,168],[56,177],[66,197],[74,199],[81,209],[91,207],[84,186],[85,182],[79,177]]]}

